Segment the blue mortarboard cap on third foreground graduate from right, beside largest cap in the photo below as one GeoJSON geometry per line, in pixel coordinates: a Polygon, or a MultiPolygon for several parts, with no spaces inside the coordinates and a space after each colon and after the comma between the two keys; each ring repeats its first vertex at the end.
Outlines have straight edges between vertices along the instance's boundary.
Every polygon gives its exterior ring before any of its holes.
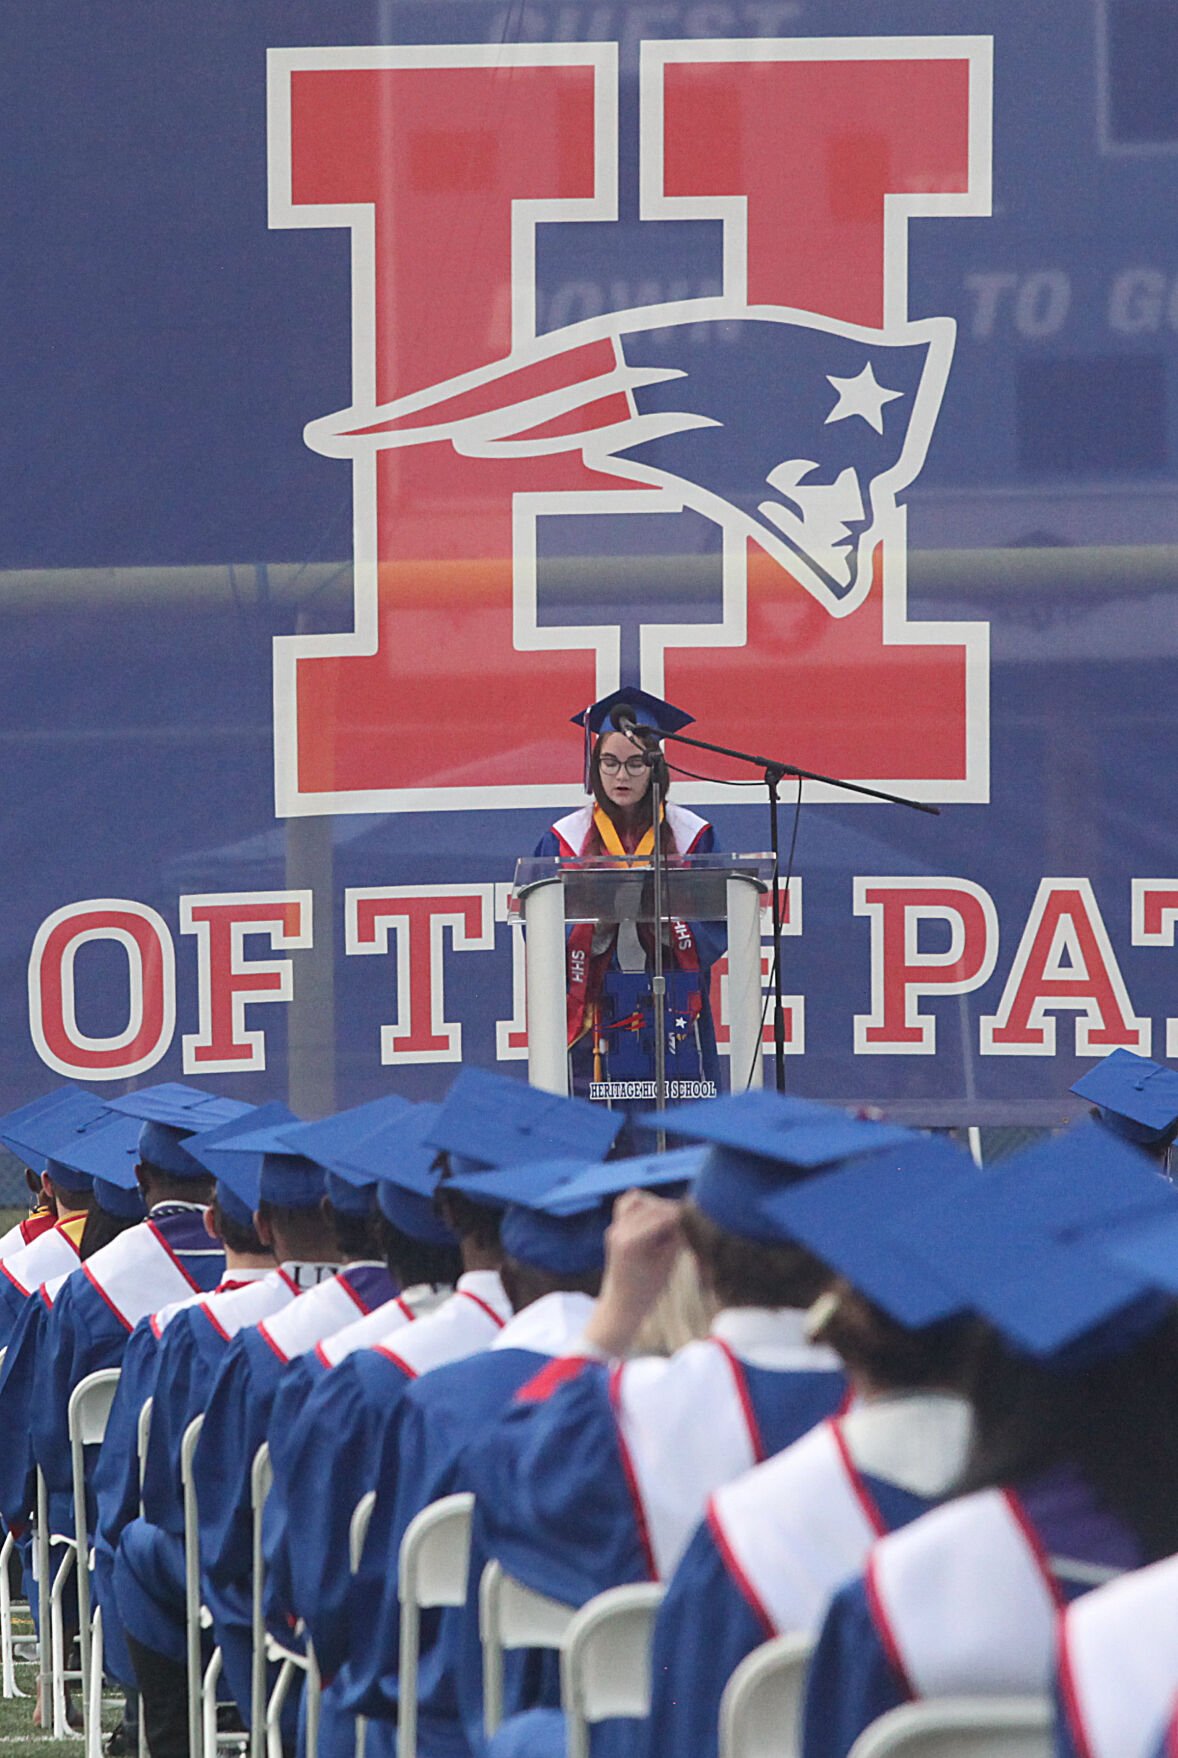
{"type": "Polygon", "coordinates": [[[944,1137],[925,1136],[814,1178],[777,1185],[763,1210],[781,1232],[821,1257],[898,1324],[916,1329],[963,1301],[909,1250],[928,1202],[976,1187],[983,1174],[944,1137]]]}

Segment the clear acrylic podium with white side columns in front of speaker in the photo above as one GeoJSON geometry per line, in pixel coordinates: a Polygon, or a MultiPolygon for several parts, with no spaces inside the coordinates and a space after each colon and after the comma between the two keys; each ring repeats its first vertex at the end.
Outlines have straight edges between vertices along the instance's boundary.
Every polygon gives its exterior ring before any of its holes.
{"type": "MultiPolygon", "coordinates": [[[[668,921],[728,923],[728,1032],[733,1092],[760,1086],[761,897],[768,854],[672,854],[665,867],[668,921]]],[[[564,928],[573,921],[654,921],[649,861],[533,856],[517,861],[512,898],[526,930],[527,1079],[568,1093],[564,928]]]]}

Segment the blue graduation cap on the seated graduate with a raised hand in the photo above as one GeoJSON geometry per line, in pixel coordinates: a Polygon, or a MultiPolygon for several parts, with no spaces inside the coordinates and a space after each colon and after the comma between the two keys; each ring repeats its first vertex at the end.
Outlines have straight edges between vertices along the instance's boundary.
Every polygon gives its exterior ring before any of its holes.
{"type": "MultiPolygon", "coordinates": [[[[649,1113],[642,1127],[654,1129],[658,1122],[649,1113]]],[[[714,1144],[691,1192],[696,1208],[728,1232],[765,1245],[789,1238],[765,1202],[784,1183],[925,1139],[898,1123],[869,1122],[812,1099],[770,1092],[673,1106],[663,1113],[663,1127],[668,1136],[696,1136],[714,1144]]]]}

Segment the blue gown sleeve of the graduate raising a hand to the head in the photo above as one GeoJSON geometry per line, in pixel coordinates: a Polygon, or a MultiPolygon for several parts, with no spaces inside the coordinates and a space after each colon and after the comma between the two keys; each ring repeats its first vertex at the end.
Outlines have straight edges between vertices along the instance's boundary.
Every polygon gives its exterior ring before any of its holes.
{"type": "Polygon", "coordinates": [[[651,1579],[605,1366],[587,1364],[543,1401],[512,1405],[480,1436],[469,1475],[491,1556],[526,1586],[584,1605],[651,1579]]]}

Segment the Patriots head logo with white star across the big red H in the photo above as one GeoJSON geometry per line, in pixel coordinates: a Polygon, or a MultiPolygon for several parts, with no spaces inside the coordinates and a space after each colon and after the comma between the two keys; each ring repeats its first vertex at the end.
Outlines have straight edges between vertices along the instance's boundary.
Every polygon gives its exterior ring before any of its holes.
{"type": "Polygon", "coordinates": [[[920,475],[951,318],[867,329],[721,299],[608,313],[505,360],[311,422],[329,455],[448,443],[471,457],[577,450],[754,540],[833,617],[862,605],[920,475]]]}

